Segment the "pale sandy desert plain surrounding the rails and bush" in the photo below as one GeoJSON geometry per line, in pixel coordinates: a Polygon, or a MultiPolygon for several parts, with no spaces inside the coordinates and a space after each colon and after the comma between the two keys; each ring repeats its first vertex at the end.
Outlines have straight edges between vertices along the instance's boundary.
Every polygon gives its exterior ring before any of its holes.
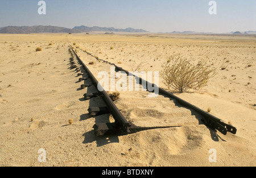
{"type": "MultiPolygon", "coordinates": [[[[254,167],[255,47],[256,35],[0,34],[0,166],[254,167]],[[170,98],[121,91],[115,104],[128,121],[181,127],[96,136],[93,125],[113,118],[89,117],[89,106],[104,103],[100,97],[84,100],[90,88],[80,89],[83,81],[69,68],[69,45],[94,76],[109,72],[110,65],[84,51],[127,71],[145,61],[145,70],[160,72],[177,53],[206,61],[217,71],[208,85],[174,94],[205,111],[210,107],[210,114],[235,126],[237,134],[209,129],[200,115],[170,98]],[[36,52],[38,47],[42,51],[36,52]]],[[[167,89],[161,78],[159,86],[167,89]]]]}

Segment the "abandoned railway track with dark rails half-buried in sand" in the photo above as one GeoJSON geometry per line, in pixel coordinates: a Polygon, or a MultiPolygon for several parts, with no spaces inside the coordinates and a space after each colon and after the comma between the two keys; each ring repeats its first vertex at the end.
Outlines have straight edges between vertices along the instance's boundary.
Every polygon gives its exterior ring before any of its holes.
{"type": "MultiPolygon", "coordinates": [[[[114,67],[116,72],[122,71],[127,75],[130,74],[125,69],[118,67],[113,63],[101,60],[89,52],[83,52],[88,56],[88,58],[90,57],[94,60],[100,61],[100,67],[114,67]]],[[[236,134],[237,132],[236,127],[225,123],[221,119],[214,117],[214,115],[207,113],[179,97],[176,97],[174,94],[167,92],[162,88],[158,88],[159,96],[156,98],[146,97],[149,92],[147,90],[146,92],[133,92],[133,94],[135,94],[134,97],[132,97],[131,94],[123,94],[123,98],[121,97],[119,99],[121,100],[120,103],[114,102],[104,89],[98,89],[97,86],[99,82],[94,76],[95,73],[93,74],[93,72],[90,71],[88,66],[85,65],[84,60],[77,55],[77,52],[71,46],[69,47],[69,53],[71,54],[71,58],[69,59],[70,69],[75,69],[79,82],[84,82],[84,84],[81,85],[81,89],[93,87],[93,89],[88,90],[88,92],[84,94],[84,99],[92,100],[94,97],[100,97],[105,103],[105,106],[89,107],[88,113],[90,117],[97,117],[102,114],[111,114],[114,119],[114,122],[106,121],[104,123],[96,123],[93,126],[93,129],[97,136],[110,133],[125,135],[137,133],[138,131],[143,130],[182,127],[189,124],[204,124],[209,129],[218,130],[224,135],[228,132],[232,134],[236,134]],[[128,101],[126,100],[127,98],[129,98],[128,101]],[[152,101],[159,104],[158,110],[154,109],[156,106],[152,104],[152,101]],[[131,102],[137,102],[140,106],[130,107],[131,102]],[[172,109],[179,110],[181,113],[180,115],[182,115],[183,118],[171,113],[172,109]],[[151,121],[158,121],[158,125],[152,124],[153,122],[151,121]]],[[[147,86],[155,86],[148,81],[144,81],[143,78],[136,76],[135,74],[133,74],[133,77],[138,79],[140,85],[143,82],[147,82],[147,84],[150,84],[147,86]]]]}

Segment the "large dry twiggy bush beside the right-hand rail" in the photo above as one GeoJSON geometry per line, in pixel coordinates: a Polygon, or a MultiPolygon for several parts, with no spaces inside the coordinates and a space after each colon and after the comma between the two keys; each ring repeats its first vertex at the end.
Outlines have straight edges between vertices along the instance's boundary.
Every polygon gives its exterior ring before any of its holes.
{"type": "Polygon", "coordinates": [[[199,90],[216,75],[216,69],[210,68],[204,61],[199,61],[195,65],[180,55],[171,56],[162,67],[160,76],[164,84],[168,89],[173,88],[180,93],[187,92],[188,89],[199,90]]]}

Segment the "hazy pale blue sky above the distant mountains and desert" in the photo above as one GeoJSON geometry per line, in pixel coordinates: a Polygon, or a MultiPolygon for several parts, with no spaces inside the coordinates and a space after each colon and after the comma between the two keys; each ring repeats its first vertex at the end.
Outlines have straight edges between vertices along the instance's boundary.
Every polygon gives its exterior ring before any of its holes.
{"type": "Polygon", "coordinates": [[[51,25],[142,28],[150,32],[256,31],[256,0],[0,0],[0,27],[51,25]]]}

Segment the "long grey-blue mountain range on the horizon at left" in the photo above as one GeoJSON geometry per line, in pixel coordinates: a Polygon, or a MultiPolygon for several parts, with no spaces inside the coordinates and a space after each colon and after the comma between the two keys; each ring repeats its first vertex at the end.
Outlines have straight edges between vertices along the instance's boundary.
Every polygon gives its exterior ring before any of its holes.
{"type": "Polygon", "coordinates": [[[106,28],[106,27],[56,27],[56,26],[7,26],[0,28],[0,34],[34,34],[34,33],[82,33],[90,31],[105,31],[105,32],[148,32],[142,29],[126,28],[106,28]]]}

